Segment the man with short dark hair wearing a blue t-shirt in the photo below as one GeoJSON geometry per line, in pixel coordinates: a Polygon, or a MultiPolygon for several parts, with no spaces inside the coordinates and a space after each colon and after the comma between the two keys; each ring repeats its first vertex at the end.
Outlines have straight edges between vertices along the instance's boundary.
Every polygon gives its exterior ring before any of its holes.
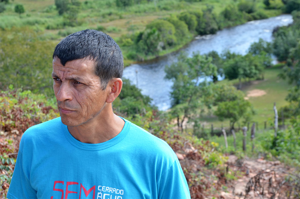
{"type": "Polygon", "coordinates": [[[29,128],[7,198],[190,198],[165,141],[113,113],[123,56],[105,33],[84,30],[53,53],[59,118],[29,128]]]}

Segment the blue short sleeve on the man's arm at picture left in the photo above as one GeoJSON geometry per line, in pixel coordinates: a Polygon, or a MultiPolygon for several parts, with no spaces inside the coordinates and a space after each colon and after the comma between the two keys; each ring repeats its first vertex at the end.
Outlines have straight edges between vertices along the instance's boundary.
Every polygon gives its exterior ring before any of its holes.
{"type": "MultiPolygon", "coordinates": [[[[20,144],[21,145],[21,144],[20,144]]],[[[37,191],[32,188],[28,175],[24,172],[23,154],[20,147],[15,169],[12,174],[12,181],[8,188],[7,198],[37,198],[37,191]]]]}

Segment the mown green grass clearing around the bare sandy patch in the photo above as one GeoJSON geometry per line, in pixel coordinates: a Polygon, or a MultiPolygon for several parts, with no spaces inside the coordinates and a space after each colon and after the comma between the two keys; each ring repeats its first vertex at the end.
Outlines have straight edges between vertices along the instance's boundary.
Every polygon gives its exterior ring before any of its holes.
{"type": "MultiPolygon", "coordinates": [[[[285,100],[285,97],[287,96],[288,89],[291,87],[291,85],[289,85],[286,80],[278,77],[280,71],[281,68],[268,68],[265,70],[264,80],[252,80],[250,82],[246,81],[243,83],[242,91],[245,93],[245,96],[247,96],[247,94],[253,90],[265,92],[265,94],[260,96],[248,97],[248,100],[251,102],[255,110],[255,115],[253,116],[252,120],[254,122],[258,122],[259,129],[264,128],[265,121],[267,121],[268,127],[273,123],[274,102],[276,102],[277,110],[279,110],[280,107],[288,104],[288,102],[285,100]]],[[[238,84],[238,80],[223,80],[219,83],[235,85],[238,84]]],[[[229,120],[219,121],[215,116],[203,115],[201,120],[204,123],[205,129],[210,129],[211,124],[214,125],[214,128],[221,128],[222,125],[224,128],[229,127],[229,120]]],[[[242,125],[242,121],[239,122],[240,125],[242,125]]],[[[238,124],[236,124],[235,127],[238,127],[238,124]]]]}

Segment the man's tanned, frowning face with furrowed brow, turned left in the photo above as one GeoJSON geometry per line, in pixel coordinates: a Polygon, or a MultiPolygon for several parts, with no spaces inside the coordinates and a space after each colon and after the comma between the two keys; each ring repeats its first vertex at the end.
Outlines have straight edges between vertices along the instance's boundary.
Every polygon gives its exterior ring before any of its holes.
{"type": "Polygon", "coordinates": [[[53,59],[53,89],[63,124],[78,126],[101,118],[108,91],[102,90],[94,70],[89,59],[68,61],[65,66],[53,59]]]}

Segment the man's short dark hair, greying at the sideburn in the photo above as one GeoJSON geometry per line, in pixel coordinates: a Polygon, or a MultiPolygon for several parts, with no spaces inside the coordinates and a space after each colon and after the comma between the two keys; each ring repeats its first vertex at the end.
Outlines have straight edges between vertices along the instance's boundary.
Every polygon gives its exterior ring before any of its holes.
{"type": "Polygon", "coordinates": [[[89,58],[95,62],[95,74],[101,79],[102,89],[109,80],[121,78],[123,55],[118,44],[107,34],[97,30],[82,30],[70,34],[57,44],[53,59],[57,56],[64,66],[75,59],[89,58]]]}

